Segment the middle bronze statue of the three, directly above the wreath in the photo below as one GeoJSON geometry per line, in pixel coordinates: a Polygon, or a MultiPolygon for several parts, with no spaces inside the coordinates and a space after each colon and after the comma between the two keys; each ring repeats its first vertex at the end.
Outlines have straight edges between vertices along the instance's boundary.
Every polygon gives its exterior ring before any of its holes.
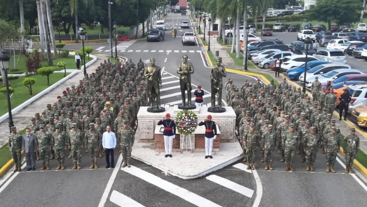
{"type": "MultiPolygon", "coordinates": [[[[179,85],[181,86],[181,98],[182,98],[182,107],[192,107],[191,106],[191,74],[194,74],[194,66],[193,64],[188,62],[188,56],[184,55],[182,59],[184,62],[179,64],[177,73],[179,76],[179,85]],[[186,96],[185,91],[188,91],[188,105],[186,105],[186,96]]],[[[195,108],[194,108],[195,109],[195,108]]]]}

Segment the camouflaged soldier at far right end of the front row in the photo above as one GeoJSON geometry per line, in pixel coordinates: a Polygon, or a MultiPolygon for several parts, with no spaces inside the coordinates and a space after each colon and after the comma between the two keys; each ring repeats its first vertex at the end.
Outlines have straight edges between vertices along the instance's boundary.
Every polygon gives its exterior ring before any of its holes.
{"type": "Polygon", "coordinates": [[[345,154],[345,173],[353,173],[352,165],[355,155],[359,150],[359,137],[355,135],[355,129],[350,129],[350,134],[344,137],[343,152],[345,154]]]}

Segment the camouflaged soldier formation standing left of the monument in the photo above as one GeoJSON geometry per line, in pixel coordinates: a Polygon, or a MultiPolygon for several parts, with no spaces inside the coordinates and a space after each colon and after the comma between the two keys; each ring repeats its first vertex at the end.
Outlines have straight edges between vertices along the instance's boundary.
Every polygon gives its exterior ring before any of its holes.
{"type": "MultiPolygon", "coordinates": [[[[26,129],[34,134],[36,157],[41,160],[41,170],[49,170],[50,160],[56,159],[57,170],[65,169],[65,150],[73,159],[73,170],[81,169],[83,151],[89,153],[90,169],[97,169],[97,158],[102,158],[102,134],[110,126],[120,142],[125,166],[129,164],[137,127],[137,114],[141,106],[147,106],[146,67],[142,60],[137,66],[130,59],[125,64],[119,60],[112,64],[104,61],[95,73],[87,74],[79,85],[72,85],[46,105],[41,113],[35,113],[26,129]],[[126,162],[127,161],[127,162],[126,162]]],[[[9,146],[15,161],[15,171],[21,171],[22,136],[12,127],[9,146]]],[[[125,167],[123,166],[123,167],[125,167]]]]}

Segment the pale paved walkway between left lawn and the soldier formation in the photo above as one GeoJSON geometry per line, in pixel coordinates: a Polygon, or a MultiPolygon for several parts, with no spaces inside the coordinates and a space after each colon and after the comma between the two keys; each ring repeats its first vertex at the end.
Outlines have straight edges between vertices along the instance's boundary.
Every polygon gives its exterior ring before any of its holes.
{"type": "MultiPolygon", "coordinates": [[[[100,65],[103,63],[104,60],[107,58],[104,55],[96,55],[97,61],[92,64],[91,66],[87,67],[87,73],[92,73],[100,65]]],[[[71,85],[78,85],[79,80],[83,79],[84,74],[83,71],[80,71],[78,74],[71,77],[69,80],[65,81],[64,83],[60,84],[50,92],[46,93],[36,101],[32,102],[26,108],[22,109],[16,115],[13,115],[13,122],[14,125],[17,127],[18,130],[24,129],[27,124],[30,123],[30,118],[34,117],[34,113],[39,112],[41,113],[43,110],[46,109],[47,103],[54,103],[56,101],[56,97],[58,95],[62,95],[63,91],[67,87],[71,87],[71,85]]],[[[9,136],[9,119],[0,123],[0,146],[3,146],[8,142],[9,136]]]]}

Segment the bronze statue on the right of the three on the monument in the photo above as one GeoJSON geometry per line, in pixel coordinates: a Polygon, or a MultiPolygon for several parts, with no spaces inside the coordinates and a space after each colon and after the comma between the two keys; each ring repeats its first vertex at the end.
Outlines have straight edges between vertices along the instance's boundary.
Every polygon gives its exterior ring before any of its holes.
{"type": "Polygon", "coordinates": [[[211,79],[211,102],[212,108],[215,107],[215,93],[217,93],[218,97],[218,106],[222,108],[222,88],[223,88],[223,81],[222,78],[226,77],[227,74],[225,73],[225,68],[220,65],[220,59],[216,58],[217,64],[212,68],[210,71],[210,79],[211,79]]]}

